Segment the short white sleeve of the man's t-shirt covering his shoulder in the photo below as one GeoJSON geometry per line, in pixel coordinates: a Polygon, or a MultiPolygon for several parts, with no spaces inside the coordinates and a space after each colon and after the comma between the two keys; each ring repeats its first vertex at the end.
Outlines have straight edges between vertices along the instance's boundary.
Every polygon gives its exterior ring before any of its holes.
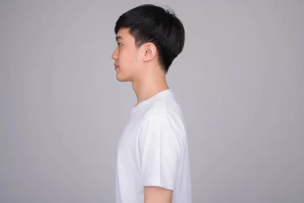
{"type": "Polygon", "coordinates": [[[145,119],[138,131],[143,186],[174,190],[183,146],[183,136],[175,124],[161,117],[145,119]]]}

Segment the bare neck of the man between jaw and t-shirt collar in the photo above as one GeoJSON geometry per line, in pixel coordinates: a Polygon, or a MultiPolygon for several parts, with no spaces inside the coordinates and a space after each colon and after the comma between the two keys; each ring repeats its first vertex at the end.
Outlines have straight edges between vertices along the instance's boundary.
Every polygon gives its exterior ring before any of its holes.
{"type": "Polygon", "coordinates": [[[159,92],[169,89],[166,75],[160,68],[151,69],[149,73],[143,74],[140,79],[132,82],[132,87],[137,97],[137,104],[134,107],[159,92]]]}

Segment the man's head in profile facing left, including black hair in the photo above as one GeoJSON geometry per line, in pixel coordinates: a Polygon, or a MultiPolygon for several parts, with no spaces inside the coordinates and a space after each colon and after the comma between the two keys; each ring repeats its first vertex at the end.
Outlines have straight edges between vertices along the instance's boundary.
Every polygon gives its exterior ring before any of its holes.
{"type": "Polygon", "coordinates": [[[167,74],[185,41],[184,27],[174,12],[155,5],[141,5],[122,14],[115,33],[117,47],[112,58],[119,81],[132,82],[149,69],[167,74]]]}

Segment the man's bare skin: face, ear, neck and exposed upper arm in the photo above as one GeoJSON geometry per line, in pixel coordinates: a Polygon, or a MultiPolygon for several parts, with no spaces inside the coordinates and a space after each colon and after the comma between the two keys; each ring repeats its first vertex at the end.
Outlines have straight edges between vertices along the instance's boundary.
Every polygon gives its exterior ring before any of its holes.
{"type": "MultiPolygon", "coordinates": [[[[137,97],[135,106],[169,89],[165,71],[158,62],[157,48],[153,43],[145,43],[137,48],[129,29],[120,29],[116,39],[118,45],[111,56],[117,66],[116,78],[120,82],[132,83],[137,97]]],[[[173,191],[166,188],[144,187],[144,203],[171,203],[172,195],[173,191]]]]}

